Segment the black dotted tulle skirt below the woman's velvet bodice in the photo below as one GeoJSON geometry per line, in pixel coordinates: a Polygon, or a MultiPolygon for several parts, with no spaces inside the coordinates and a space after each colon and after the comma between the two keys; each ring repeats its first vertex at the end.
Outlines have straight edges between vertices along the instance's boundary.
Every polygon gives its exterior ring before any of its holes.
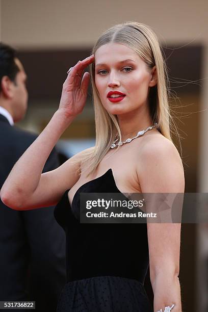
{"type": "Polygon", "coordinates": [[[57,312],[153,312],[142,283],[103,276],[68,282],[57,312]]]}

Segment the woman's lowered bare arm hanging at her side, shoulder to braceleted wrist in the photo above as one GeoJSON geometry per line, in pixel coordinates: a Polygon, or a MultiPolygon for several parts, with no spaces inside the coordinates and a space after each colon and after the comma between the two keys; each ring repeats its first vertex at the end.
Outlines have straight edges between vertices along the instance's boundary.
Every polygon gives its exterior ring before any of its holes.
{"type": "MultiPolygon", "coordinates": [[[[138,166],[142,193],[184,193],[184,170],[175,146],[160,136],[149,143],[140,154],[142,167],[138,166]]],[[[147,223],[154,312],[161,308],[164,311],[165,306],[172,304],[174,312],[181,312],[180,226],[180,223],[147,223]]]]}

